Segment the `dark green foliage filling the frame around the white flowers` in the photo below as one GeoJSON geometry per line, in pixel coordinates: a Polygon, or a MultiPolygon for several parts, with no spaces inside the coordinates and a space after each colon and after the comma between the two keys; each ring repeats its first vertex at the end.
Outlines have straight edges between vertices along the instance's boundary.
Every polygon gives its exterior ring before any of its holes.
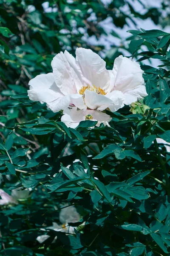
{"type": "Polygon", "coordinates": [[[168,3],[1,0],[0,11],[0,188],[31,188],[0,206],[0,255],[170,255],[170,153],[156,142],[170,143],[168,3]],[[102,25],[108,18],[112,29],[102,25]],[[148,18],[163,31],[139,30],[148,18]],[[130,24],[138,30],[122,39],[117,28],[130,24]],[[28,99],[28,81],[76,47],[99,53],[109,69],[123,54],[144,70],[148,96],[111,113],[110,128],[67,128],[61,113],[28,99]],[[82,216],[71,225],[85,227],[75,235],[45,230],[65,204],[82,216]]]}

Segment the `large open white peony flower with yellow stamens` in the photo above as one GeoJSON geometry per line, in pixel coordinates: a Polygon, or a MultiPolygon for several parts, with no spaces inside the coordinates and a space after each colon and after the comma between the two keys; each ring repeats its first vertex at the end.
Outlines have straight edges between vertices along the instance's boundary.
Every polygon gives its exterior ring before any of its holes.
{"type": "Polygon", "coordinates": [[[99,111],[114,112],[147,96],[140,65],[122,55],[115,59],[113,70],[106,70],[99,55],[77,48],[76,58],[60,52],[51,66],[53,73],[31,79],[28,96],[45,102],[53,112],[64,110],[62,121],[69,127],[85,119],[108,125],[111,117],[99,111]]]}

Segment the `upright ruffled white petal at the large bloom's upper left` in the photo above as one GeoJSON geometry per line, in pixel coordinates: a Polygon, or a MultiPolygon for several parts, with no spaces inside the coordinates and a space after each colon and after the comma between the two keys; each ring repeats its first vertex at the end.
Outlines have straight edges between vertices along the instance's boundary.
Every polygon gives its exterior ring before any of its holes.
{"type": "Polygon", "coordinates": [[[65,54],[60,52],[51,61],[55,82],[64,95],[78,93],[76,85],[80,88],[82,86],[77,74],[66,57],[71,64],[74,63],[74,57],[69,55],[68,52],[65,52],[65,54]],[[79,85],[77,83],[79,83],[79,85]]]}

